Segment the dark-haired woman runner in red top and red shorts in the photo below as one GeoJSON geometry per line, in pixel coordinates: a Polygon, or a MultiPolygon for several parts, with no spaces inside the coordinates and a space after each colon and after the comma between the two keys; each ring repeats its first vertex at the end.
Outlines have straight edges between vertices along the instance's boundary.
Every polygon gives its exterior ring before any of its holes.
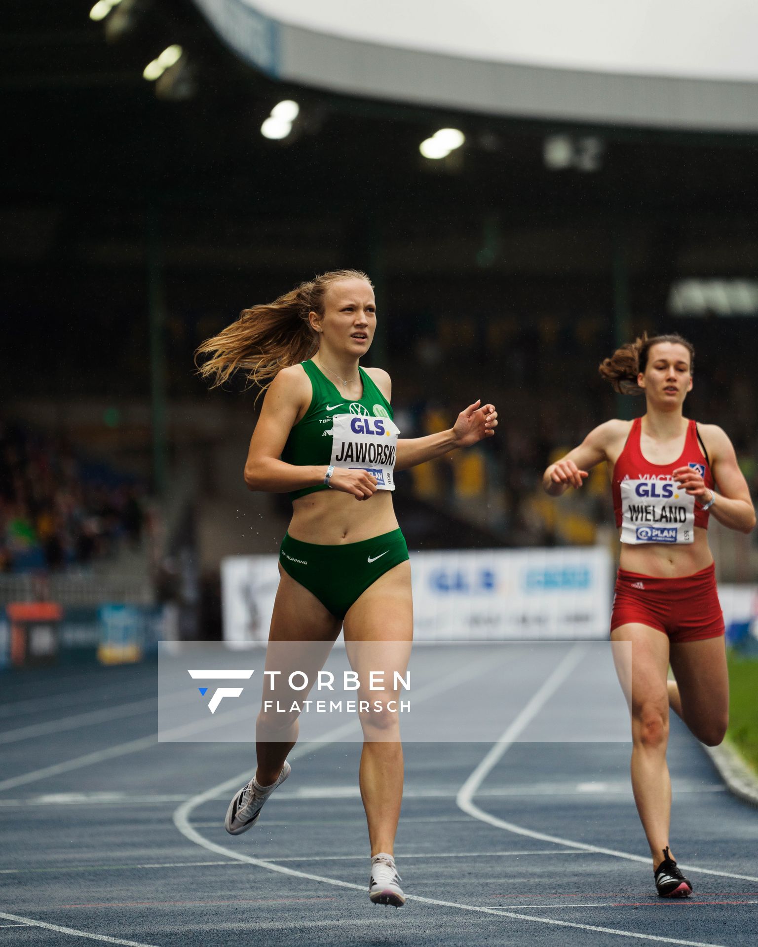
{"type": "Polygon", "coordinates": [[[545,491],[558,496],[581,487],[602,460],[611,474],[622,542],[611,640],[631,645],[631,680],[621,660],[617,668],[632,719],[632,788],[663,898],[693,889],[669,844],[669,706],[709,746],[722,741],[729,717],[708,518],[740,532],[755,526],[730,439],[715,424],[682,416],[694,360],[679,335],[643,336],[617,349],[600,372],[616,391],[643,394],[645,414],[605,421],[543,478],[545,491]],[[676,682],[667,681],[669,663],[676,682]]]}

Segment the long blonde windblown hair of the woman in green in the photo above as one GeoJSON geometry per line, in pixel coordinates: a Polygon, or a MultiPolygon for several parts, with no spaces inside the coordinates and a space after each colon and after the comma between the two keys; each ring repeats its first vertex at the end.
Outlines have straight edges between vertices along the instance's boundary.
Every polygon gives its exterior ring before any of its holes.
{"type": "Polygon", "coordinates": [[[317,336],[308,313],[323,315],[326,291],[341,279],[365,279],[372,285],[359,270],[333,270],[300,283],[273,302],[244,309],[236,322],[197,347],[196,365],[198,356],[210,355],[198,373],[211,379],[215,388],[243,371],[250,383],[264,390],[281,368],[298,365],[316,352],[317,336]]]}

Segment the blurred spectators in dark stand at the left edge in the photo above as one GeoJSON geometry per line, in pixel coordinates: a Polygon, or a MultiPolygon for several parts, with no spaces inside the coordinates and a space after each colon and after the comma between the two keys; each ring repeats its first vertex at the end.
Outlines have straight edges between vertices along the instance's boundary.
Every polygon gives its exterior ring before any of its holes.
{"type": "Polygon", "coordinates": [[[133,481],[0,419],[0,572],[88,566],[137,547],[145,520],[133,481]]]}

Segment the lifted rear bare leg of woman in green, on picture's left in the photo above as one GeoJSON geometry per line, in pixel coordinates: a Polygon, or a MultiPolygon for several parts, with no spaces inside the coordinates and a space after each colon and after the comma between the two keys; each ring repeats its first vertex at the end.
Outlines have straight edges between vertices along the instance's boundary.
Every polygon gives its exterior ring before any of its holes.
{"type": "MultiPolygon", "coordinates": [[[[278,642],[319,642],[328,643],[323,652],[326,660],[329,649],[339,634],[340,621],[334,617],[316,596],[303,588],[280,566],[280,585],[274,603],[274,612],[271,616],[271,632],[269,634],[269,648],[266,654],[266,670],[276,667],[282,670],[280,680],[286,679],[285,663],[294,661],[291,670],[306,670],[314,658],[313,649],[303,649],[301,658],[295,660],[284,649],[277,649],[278,642]]],[[[320,670],[319,665],[319,669],[320,670]]],[[[313,675],[309,674],[313,681],[313,675]]],[[[266,678],[266,681],[269,679],[266,678]]],[[[272,693],[268,687],[263,690],[263,700],[276,699],[277,693],[272,693]]],[[[307,691],[299,691],[298,698],[307,697],[307,691]]],[[[258,769],[256,780],[260,786],[270,786],[277,781],[281,767],[287,754],[298,741],[299,724],[297,717],[282,716],[275,712],[264,712],[258,715],[256,725],[256,756],[258,769]]]]}

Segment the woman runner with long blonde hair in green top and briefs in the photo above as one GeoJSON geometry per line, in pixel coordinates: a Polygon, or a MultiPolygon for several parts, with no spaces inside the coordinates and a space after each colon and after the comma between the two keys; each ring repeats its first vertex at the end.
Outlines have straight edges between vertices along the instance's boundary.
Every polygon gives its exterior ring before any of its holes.
{"type": "MultiPolygon", "coordinates": [[[[244,480],[250,490],[289,491],[293,501],[280,550],[269,648],[272,642],[334,642],[343,623],[346,642],[409,642],[410,565],[392,509],[393,469],[406,470],[495,434],[494,406],[477,401],[460,412],[450,430],[398,439],[388,373],[358,364],[375,328],[369,277],[339,270],[273,303],[244,310],[237,322],[198,348],[210,356],[201,372],[215,384],[243,369],[268,389],[244,480]],[[356,418],[370,423],[356,424],[356,418]],[[350,459],[361,450],[371,458],[363,467],[350,459]]],[[[400,907],[405,895],[393,845],[403,795],[403,751],[397,713],[387,708],[393,692],[388,688],[371,696],[387,699],[379,720],[361,717],[369,893],[374,903],[400,907]],[[371,727],[381,731],[376,741],[366,739],[371,727]]],[[[286,757],[298,739],[298,722],[282,726],[271,717],[271,712],[259,715],[258,768],[226,813],[226,831],[232,834],[257,821],[263,803],[290,774],[286,757]],[[272,732],[276,741],[262,739],[272,732]]]]}

